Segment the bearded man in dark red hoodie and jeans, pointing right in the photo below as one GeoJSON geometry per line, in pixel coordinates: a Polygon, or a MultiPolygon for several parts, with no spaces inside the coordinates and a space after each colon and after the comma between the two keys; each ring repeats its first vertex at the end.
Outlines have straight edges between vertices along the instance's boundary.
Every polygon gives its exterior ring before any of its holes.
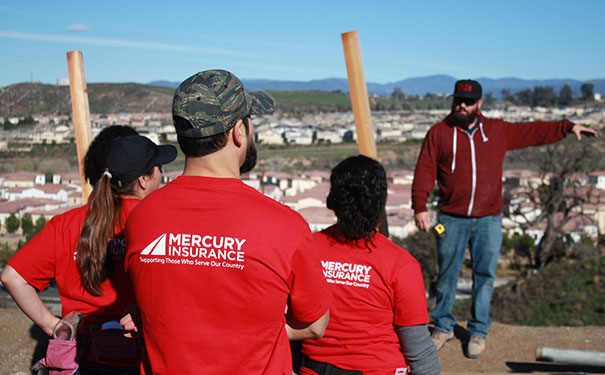
{"type": "Polygon", "coordinates": [[[439,185],[438,221],[445,227],[437,240],[439,276],[437,304],[432,311],[432,337],[437,350],[454,338],[452,307],[464,252],[470,248],[473,270],[469,358],[485,350],[489,309],[502,243],[502,164],[506,151],[557,142],[568,133],[597,132],[568,120],[510,123],[481,115],[482,89],[477,81],[454,86],[452,110],[424,138],[412,184],[416,226],[429,231],[432,220],[426,203],[439,185]]]}

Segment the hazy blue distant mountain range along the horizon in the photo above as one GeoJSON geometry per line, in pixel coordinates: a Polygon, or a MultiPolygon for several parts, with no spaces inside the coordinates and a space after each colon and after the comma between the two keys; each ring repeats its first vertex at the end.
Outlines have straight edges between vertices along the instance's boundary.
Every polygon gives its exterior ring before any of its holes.
{"type": "MultiPolygon", "coordinates": [[[[594,85],[594,92],[605,95],[605,79],[593,79],[578,81],[574,79],[545,79],[525,80],[519,78],[475,78],[483,86],[483,93],[491,92],[496,98],[502,96],[502,90],[508,89],[516,93],[525,89],[533,89],[536,86],[552,87],[556,93],[564,85],[569,85],[574,94],[580,93],[580,86],[588,82],[594,85]]],[[[456,78],[448,75],[432,75],[426,77],[408,78],[392,83],[367,82],[368,93],[390,96],[396,87],[399,87],[406,95],[451,94],[456,78]]],[[[326,78],[312,81],[275,81],[269,79],[242,79],[249,90],[265,91],[342,91],[349,92],[349,83],[344,78],[326,78]]],[[[153,81],[149,85],[176,88],[180,82],[153,81]]]]}

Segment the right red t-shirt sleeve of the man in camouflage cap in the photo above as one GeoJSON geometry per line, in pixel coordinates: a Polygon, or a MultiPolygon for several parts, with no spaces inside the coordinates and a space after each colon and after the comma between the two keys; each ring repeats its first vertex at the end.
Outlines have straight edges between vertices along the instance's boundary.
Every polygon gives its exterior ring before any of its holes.
{"type": "Polygon", "coordinates": [[[290,306],[301,322],[314,322],[328,311],[331,294],[309,239],[292,257],[290,306]]]}

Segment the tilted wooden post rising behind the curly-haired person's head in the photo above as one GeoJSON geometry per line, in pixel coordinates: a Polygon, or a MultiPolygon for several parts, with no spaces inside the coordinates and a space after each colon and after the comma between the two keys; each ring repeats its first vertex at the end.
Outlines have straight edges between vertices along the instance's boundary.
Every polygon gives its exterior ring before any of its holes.
{"type": "MultiPolygon", "coordinates": [[[[349,95],[351,97],[351,106],[353,107],[353,117],[355,118],[359,154],[378,160],[374,127],[372,126],[372,114],[370,112],[370,100],[368,99],[368,87],[363,72],[363,62],[361,61],[359,34],[357,31],[350,31],[340,35],[342,37],[342,47],[347,65],[349,95]]],[[[382,221],[378,223],[378,230],[388,237],[389,225],[387,223],[386,212],[383,214],[382,221]]]]}

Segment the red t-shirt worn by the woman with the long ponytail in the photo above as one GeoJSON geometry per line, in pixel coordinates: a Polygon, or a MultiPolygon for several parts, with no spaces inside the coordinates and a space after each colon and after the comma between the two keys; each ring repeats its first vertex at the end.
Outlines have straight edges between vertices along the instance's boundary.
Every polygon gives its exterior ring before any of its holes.
{"type": "MultiPolygon", "coordinates": [[[[138,203],[138,199],[122,200],[122,223],[138,203]]],[[[88,205],[84,205],[53,217],[40,233],[15,253],[8,264],[38,291],[56,280],[62,316],[79,311],[86,316],[88,323],[120,320],[126,306],[135,303],[132,283],[124,272],[126,248],[123,234],[116,228],[116,237],[109,244],[113,274],[101,284],[103,294],[91,295],[82,286],[76,265],[76,245],[87,209],[88,205]]]]}

